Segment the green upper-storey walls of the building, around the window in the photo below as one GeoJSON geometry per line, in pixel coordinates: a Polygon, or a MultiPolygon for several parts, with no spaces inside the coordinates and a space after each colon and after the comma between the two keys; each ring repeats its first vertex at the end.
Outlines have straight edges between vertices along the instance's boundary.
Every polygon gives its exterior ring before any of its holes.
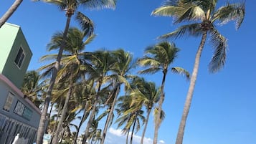
{"type": "Polygon", "coordinates": [[[16,87],[20,88],[29,66],[32,52],[19,26],[4,24],[0,29],[0,37],[0,57],[4,57],[0,59],[0,72],[11,80],[16,87]],[[14,60],[20,47],[24,50],[25,57],[22,66],[19,68],[14,63],[14,60]]]}

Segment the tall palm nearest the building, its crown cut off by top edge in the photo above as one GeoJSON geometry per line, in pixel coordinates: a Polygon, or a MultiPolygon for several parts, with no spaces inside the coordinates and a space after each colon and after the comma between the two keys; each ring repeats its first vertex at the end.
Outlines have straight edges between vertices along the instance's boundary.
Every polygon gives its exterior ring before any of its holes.
{"type": "MultiPolygon", "coordinates": [[[[115,0],[44,0],[47,3],[55,4],[62,11],[65,11],[65,15],[67,16],[67,21],[65,24],[65,29],[63,32],[63,39],[60,43],[60,49],[56,58],[56,62],[54,64],[54,69],[52,72],[52,78],[49,82],[49,89],[47,91],[47,95],[44,101],[44,109],[42,111],[41,119],[39,122],[39,128],[37,131],[37,144],[42,143],[43,135],[44,135],[44,125],[47,117],[47,111],[49,107],[49,102],[52,95],[52,89],[54,86],[54,82],[57,77],[57,72],[60,70],[60,61],[62,58],[62,52],[66,45],[67,32],[70,28],[70,21],[72,15],[77,11],[79,6],[84,6],[89,9],[100,9],[100,8],[115,8],[115,0]]],[[[80,22],[82,29],[87,31],[87,34],[93,34],[94,26],[93,21],[91,21],[87,16],[77,11],[77,20],[80,22]]]]}

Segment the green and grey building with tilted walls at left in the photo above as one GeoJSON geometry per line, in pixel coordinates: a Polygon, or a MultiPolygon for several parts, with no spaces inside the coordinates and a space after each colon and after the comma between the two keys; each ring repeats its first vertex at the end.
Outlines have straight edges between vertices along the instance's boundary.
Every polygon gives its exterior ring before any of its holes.
{"type": "Polygon", "coordinates": [[[36,140],[40,110],[19,90],[32,52],[22,29],[4,24],[0,29],[0,143],[12,143],[15,136],[23,143],[36,140]]]}

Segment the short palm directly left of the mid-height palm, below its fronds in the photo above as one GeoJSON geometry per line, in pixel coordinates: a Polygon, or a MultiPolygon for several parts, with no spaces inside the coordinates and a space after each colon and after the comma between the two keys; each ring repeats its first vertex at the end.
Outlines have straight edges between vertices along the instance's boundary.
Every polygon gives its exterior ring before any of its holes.
{"type": "Polygon", "coordinates": [[[137,85],[137,88],[135,90],[132,90],[131,92],[131,96],[133,97],[132,105],[134,105],[134,107],[138,107],[139,105],[145,105],[147,110],[145,126],[141,135],[141,144],[143,144],[149,115],[154,105],[158,102],[161,92],[159,88],[156,87],[154,82],[146,82],[146,80],[144,80],[143,78],[139,78],[134,82],[134,85],[137,85]]]}

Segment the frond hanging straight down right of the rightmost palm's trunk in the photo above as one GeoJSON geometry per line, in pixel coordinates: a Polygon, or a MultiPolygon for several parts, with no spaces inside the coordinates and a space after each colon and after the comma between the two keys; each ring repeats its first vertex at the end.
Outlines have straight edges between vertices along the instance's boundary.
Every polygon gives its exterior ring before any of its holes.
{"type": "Polygon", "coordinates": [[[214,55],[209,63],[209,71],[217,72],[226,62],[227,39],[217,29],[211,29],[211,40],[214,47],[214,55]]]}

